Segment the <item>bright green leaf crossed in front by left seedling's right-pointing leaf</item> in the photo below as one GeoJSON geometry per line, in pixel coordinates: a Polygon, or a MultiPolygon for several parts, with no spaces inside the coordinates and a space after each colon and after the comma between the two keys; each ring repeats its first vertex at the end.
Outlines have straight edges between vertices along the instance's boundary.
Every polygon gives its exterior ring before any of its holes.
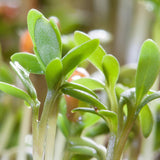
{"type": "MultiPolygon", "coordinates": [[[[76,31],[74,33],[74,39],[78,45],[90,40],[91,38],[88,37],[87,34],[76,31]]],[[[103,56],[106,55],[105,50],[99,45],[95,52],[88,58],[98,69],[102,71],[102,59],[103,56]]]]}

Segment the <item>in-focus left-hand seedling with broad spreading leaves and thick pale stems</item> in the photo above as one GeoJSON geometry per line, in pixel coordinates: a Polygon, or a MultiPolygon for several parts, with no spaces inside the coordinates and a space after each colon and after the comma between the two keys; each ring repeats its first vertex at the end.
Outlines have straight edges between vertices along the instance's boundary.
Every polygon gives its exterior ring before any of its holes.
{"type": "MultiPolygon", "coordinates": [[[[68,84],[65,80],[79,63],[97,49],[99,40],[89,40],[62,57],[61,36],[54,19],[51,17],[47,20],[42,13],[32,9],[28,13],[27,22],[35,54],[15,53],[10,62],[26,91],[4,82],[0,82],[0,89],[24,99],[26,104],[32,107],[33,159],[48,160],[54,157],[54,139],[62,85],[79,88],[82,92],[85,91],[88,97],[93,97],[91,90],[81,85],[68,84]],[[30,73],[43,74],[48,87],[40,119],[40,102],[30,80],[30,73]]],[[[92,99],[99,103],[97,98],[92,99]]]]}

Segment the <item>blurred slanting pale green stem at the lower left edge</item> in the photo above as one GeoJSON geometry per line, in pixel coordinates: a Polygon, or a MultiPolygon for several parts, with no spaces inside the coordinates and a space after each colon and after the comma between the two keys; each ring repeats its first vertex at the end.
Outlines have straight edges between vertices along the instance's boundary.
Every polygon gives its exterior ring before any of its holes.
{"type": "Polygon", "coordinates": [[[12,131],[15,126],[15,120],[16,114],[12,111],[8,113],[4,120],[2,131],[0,133],[0,154],[2,154],[2,152],[4,151],[10,139],[10,136],[12,135],[12,131]]]}

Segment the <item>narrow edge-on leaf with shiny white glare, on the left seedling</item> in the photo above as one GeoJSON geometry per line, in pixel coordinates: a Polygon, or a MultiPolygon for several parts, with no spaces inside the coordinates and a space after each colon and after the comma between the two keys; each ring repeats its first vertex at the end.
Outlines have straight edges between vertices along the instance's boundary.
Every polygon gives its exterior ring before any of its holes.
{"type": "Polygon", "coordinates": [[[29,72],[25,70],[17,61],[16,62],[10,62],[10,65],[14,69],[14,71],[17,73],[18,77],[22,81],[23,85],[26,87],[28,94],[33,98],[37,98],[36,90],[29,79],[29,72]]]}

